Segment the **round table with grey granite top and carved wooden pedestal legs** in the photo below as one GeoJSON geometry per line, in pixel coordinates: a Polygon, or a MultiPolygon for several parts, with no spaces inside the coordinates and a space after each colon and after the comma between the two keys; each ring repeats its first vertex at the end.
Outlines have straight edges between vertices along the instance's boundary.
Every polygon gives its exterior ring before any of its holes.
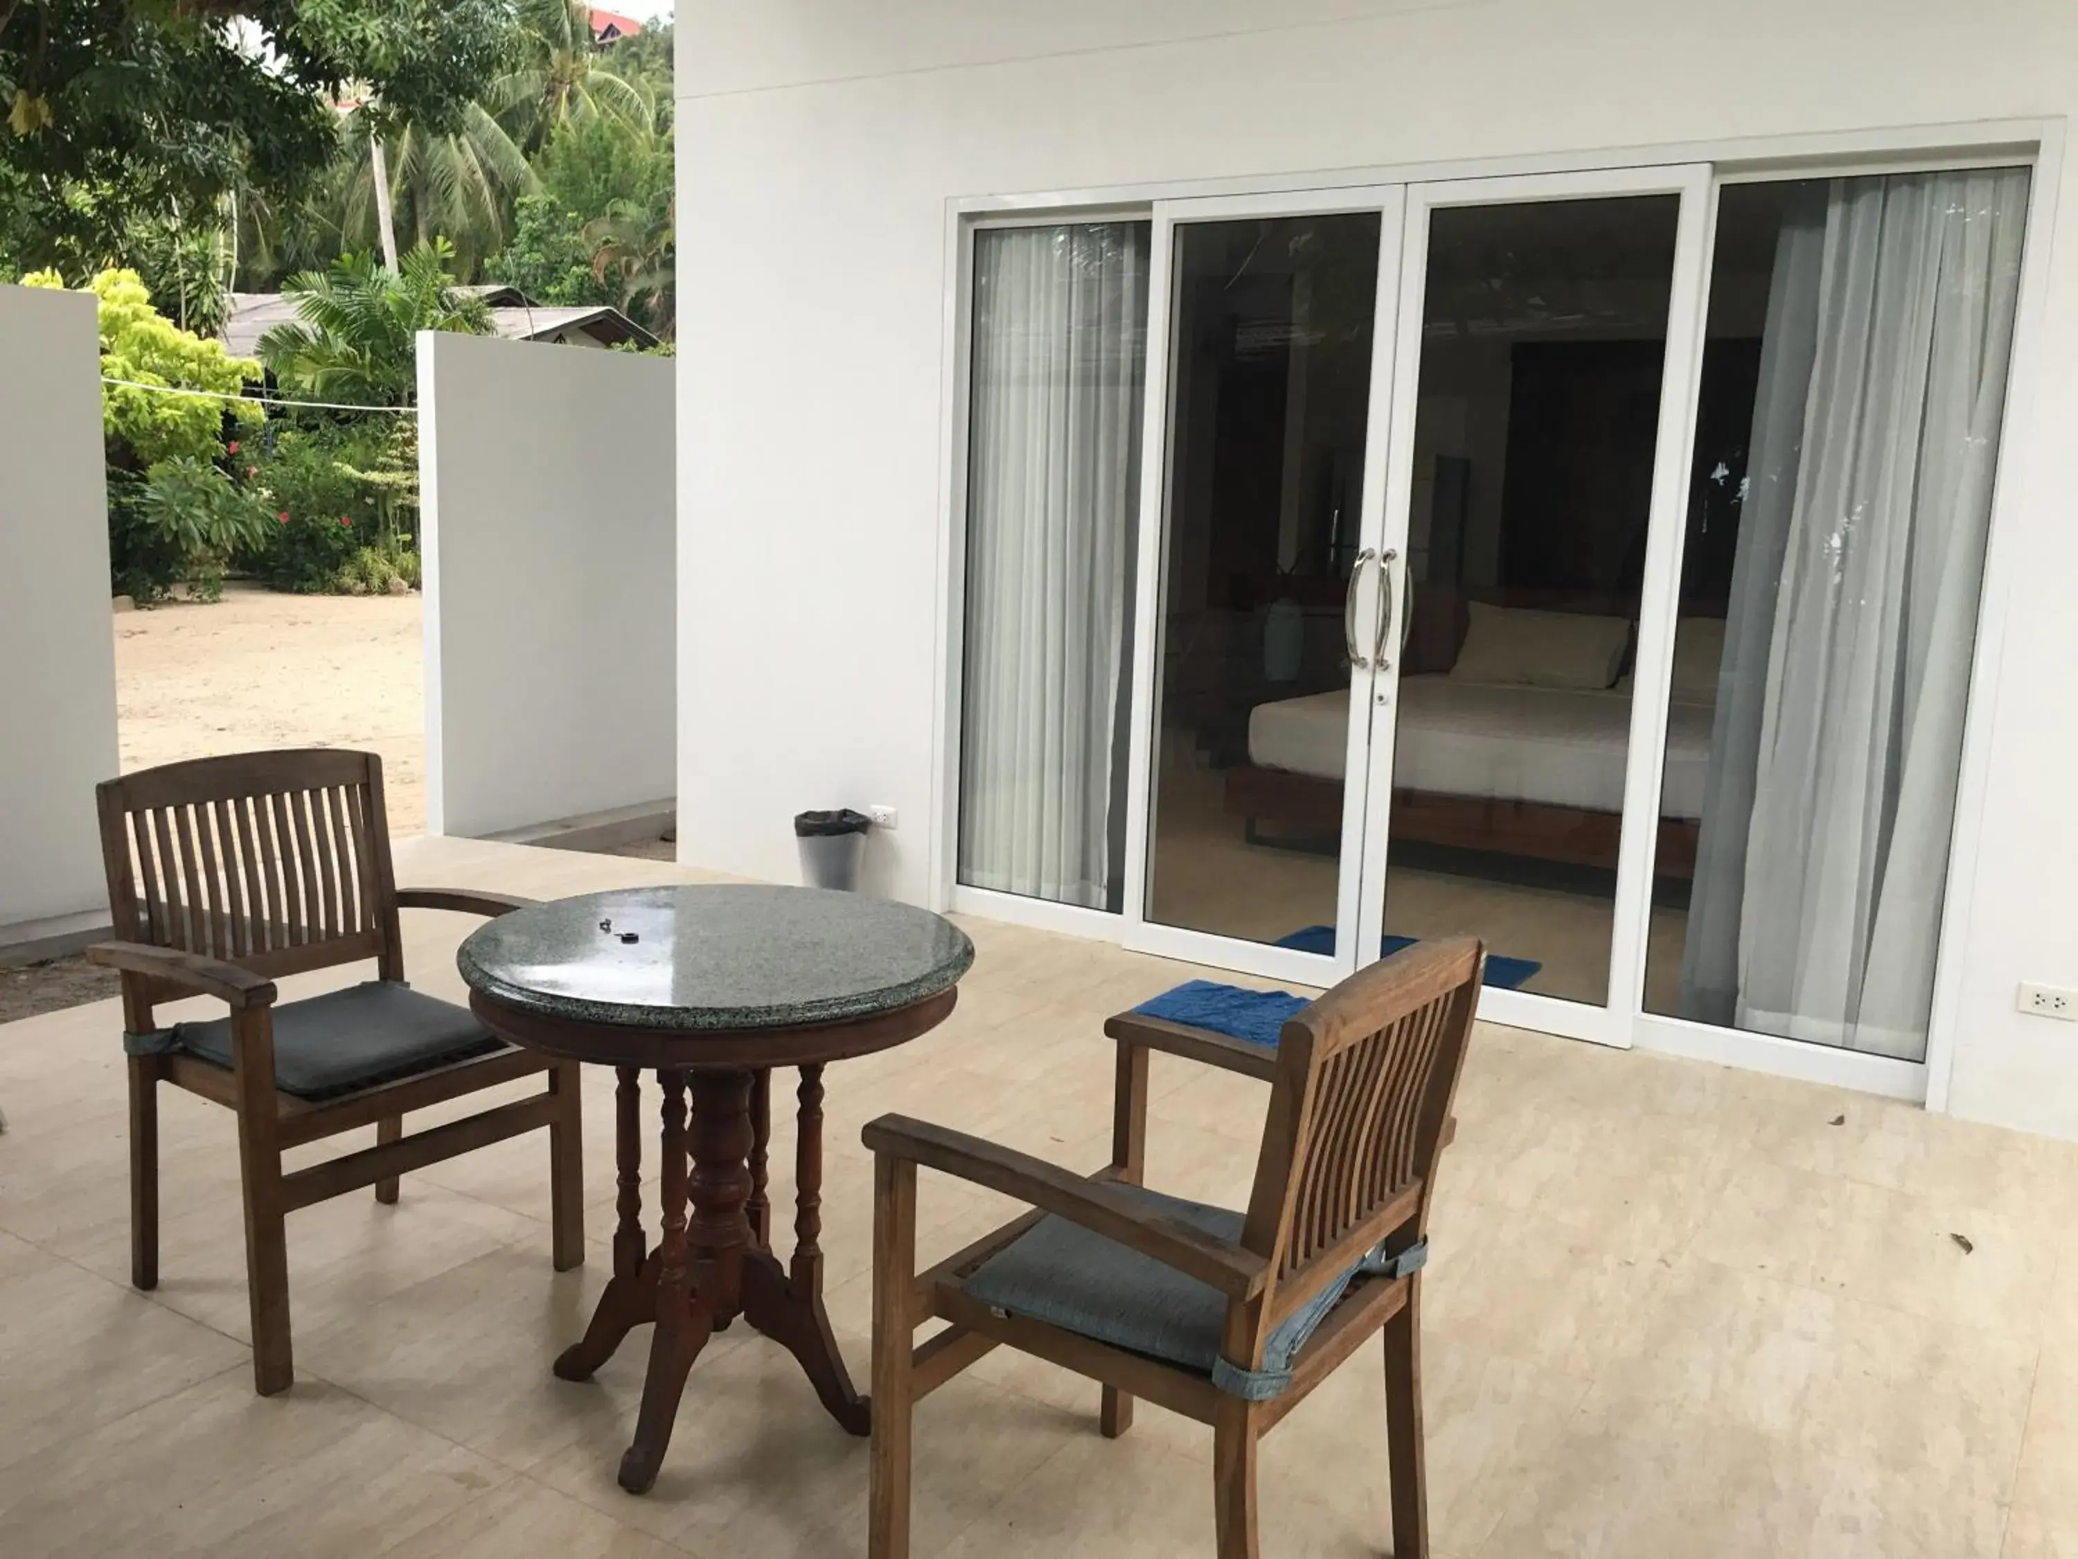
{"type": "Polygon", "coordinates": [[[619,1071],[613,1276],[555,1372],[588,1380],[634,1326],[655,1322],[621,1488],[657,1482],[686,1374],[736,1316],[800,1359],[846,1430],[869,1432],[867,1399],[852,1389],[823,1312],[823,1066],[943,1023],[973,962],[966,933],[929,910],[817,888],[719,883],[532,904],[461,944],[470,1008],[486,1029],[619,1071]],[[775,1066],[800,1068],[796,1245],[785,1266],[771,1249],[765,1195],[775,1066]],[[642,1233],[642,1071],[655,1071],[663,1089],[655,1249],[642,1233]]]}

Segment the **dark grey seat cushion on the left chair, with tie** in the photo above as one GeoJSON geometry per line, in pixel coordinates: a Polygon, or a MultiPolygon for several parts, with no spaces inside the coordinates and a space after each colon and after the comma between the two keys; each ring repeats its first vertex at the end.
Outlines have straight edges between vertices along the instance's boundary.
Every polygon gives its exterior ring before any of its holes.
{"type": "MultiPolygon", "coordinates": [[[[177,1023],[172,1050],[231,1064],[231,1019],[177,1023]]],[[[505,1050],[465,1006],[370,979],[274,1008],[274,1085],[299,1100],[328,1100],[465,1056],[505,1050]]]]}

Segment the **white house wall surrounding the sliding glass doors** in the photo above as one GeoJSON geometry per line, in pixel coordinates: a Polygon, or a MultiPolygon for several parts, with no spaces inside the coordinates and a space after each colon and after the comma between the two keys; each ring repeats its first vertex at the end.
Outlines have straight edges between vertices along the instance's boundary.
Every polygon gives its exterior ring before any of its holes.
{"type": "MultiPolygon", "coordinates": [[[[875,869],[925,902],[948,202],[2053,121],[2034,200],[2078,212],[2078,6],[2053,0],[682,0],[680,37],[680,852],[788,879],[788,813],[889,802],[875,869]]],[[[2014,1008],[2022,979],[2078,985],[2078,237],[2039,274],[1933,1089],[2078,1137],[2078,1029],[2014,1008]]]]}

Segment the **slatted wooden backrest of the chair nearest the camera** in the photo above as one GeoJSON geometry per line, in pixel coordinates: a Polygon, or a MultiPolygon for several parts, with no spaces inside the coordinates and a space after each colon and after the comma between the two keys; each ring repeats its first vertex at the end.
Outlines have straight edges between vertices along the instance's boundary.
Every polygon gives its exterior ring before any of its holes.
{"type": "Polygon", "coordinates": [[[1272,1264],[1266,1328],[1378,1241],[1421,1237],[1482,962],[1473,937],[1423,942],[1284,1025],[1241,1239],[1272,1264]]]}

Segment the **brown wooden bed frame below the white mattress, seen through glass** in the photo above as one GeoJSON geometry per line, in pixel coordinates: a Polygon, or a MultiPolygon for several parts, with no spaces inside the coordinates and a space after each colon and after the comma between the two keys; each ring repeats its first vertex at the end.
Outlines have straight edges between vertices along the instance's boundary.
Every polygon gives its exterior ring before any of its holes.
{"type": "MultiPolygon", "coordinates": [[[[1261,823],[1336,834],[1342,827],[1342,782],[1243,765],[1226,771],[1226,813],[1247,823],[1251,842],[1257,842],[1261,823]]],[[[1696,827],[1685,817],[1660,819],[1654,875],[1694,877],[1696,827]]],[[[1434,790],[1392,792],[1394,840],[1615,871],[1621,836],[1621,813],[1434,790]]]]}

